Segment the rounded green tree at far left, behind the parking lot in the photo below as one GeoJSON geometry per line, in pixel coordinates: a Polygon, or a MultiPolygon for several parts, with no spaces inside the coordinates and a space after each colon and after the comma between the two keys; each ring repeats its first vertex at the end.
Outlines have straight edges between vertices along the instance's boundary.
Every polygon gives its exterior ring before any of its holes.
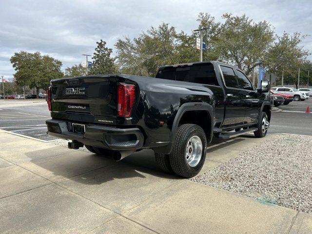
{"type": "Polygon", "coordinates": [[[48,55],[41,55],[39,52],[29,53],[21,51],[15,53],[10,59],[16,73],[14,79],[20,86],[28,85],[35,88],[47,89],[50,80],[62,78],[60,70],[62,62],[48,55]]]}

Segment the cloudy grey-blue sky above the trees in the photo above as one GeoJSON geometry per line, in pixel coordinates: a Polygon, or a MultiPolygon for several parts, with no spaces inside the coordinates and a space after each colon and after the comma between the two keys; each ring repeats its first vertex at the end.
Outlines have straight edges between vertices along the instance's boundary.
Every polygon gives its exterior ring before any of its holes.
{"type": "MultiPolygon", "coordinates": [[[[246,14],[267,20],[277,34],[312,35],[312,0],[0,0],[0,76],[13,78],[10,57],[39,51],[63,62],[63,70],[92,55],[96,41],[113,48],[123,36],[136,37],[162,22],[191,33],[197,15],[246,14]]],[[[312,51],[312,37],[302,44],[312,51]]],[[[312,60],[310,56],[309,59],[312,60]]]]}

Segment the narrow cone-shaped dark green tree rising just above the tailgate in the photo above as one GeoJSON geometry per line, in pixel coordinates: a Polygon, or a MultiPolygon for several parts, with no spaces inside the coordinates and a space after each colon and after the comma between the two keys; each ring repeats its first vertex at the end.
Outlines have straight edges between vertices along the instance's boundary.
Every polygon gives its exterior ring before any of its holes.
{"type": "Polygon", "coordinates": [[[102,39],[97,42],[96,52],[93,54],[92,68],[90,75],[115,74],[118,72],[114,63],[115,59],[111,58],[112,49],[107,48],[106,42],[102,39]]]}

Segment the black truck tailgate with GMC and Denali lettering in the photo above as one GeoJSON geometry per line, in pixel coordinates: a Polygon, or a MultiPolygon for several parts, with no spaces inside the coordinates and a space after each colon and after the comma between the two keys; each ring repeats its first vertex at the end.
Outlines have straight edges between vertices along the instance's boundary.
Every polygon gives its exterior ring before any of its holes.
{"type": "Polygon", "coordinates": [[[51,116],[73,121],[116,122],[116,78],[81,77],[52,81],[51,116]]]}

